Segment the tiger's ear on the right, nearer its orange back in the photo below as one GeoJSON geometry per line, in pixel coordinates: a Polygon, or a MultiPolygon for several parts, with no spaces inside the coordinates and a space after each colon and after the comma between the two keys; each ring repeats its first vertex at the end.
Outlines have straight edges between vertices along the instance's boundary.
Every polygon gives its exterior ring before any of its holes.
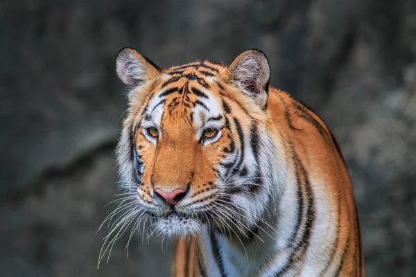
{"type": "Polygon", "coordinates": [[[255,49],[244,51],[232,61],[222,78],[241,89],[261,109],[267,108],[270,66],[263,52],[255,49]]]}

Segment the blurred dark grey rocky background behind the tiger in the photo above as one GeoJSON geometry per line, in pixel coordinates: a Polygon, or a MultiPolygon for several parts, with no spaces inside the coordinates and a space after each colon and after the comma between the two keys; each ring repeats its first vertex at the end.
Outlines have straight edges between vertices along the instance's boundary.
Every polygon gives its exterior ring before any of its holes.
{"type": "Polygon", "coordinates": [[[139,234],[96,269],[124,46],[164,67],[266,52],[340,141],[367,276],[416,276],[415,0],[2,0],[0,26],[1,276],[168,275],[172,247],[139,234]]]}

